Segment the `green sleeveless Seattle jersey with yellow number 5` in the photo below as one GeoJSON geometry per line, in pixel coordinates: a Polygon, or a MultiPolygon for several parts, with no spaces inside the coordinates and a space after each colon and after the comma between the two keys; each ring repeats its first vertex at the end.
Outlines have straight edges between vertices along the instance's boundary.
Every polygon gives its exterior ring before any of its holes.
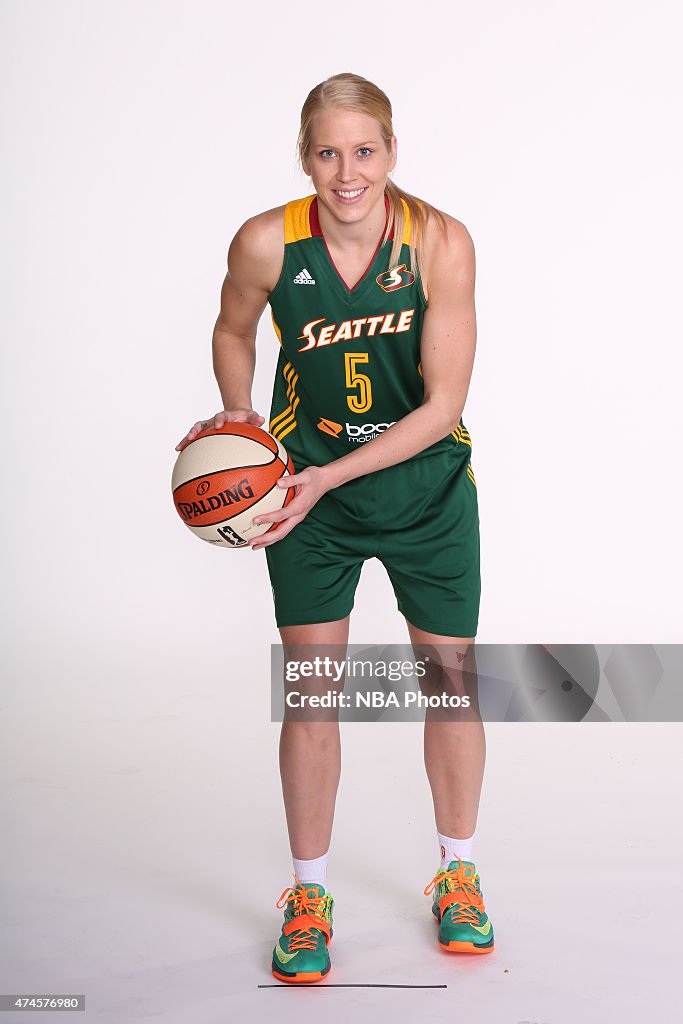
{"type": "MultiPolygon", "coordinates": [[[[321,230],[317,197],[285,207],[285,259],[268,296],[281,346],[268,430],[297,471],[356,450],[422,404],[420,337],[427,302],[420,279],[409,270],[411,214],[401,202],[405,221],[396,265],[388,266],[392,234],[378,244],[350,289],[321,230]]],[[[413,458],[454,446],[469,457],[462,419],[413,458]]]]}

